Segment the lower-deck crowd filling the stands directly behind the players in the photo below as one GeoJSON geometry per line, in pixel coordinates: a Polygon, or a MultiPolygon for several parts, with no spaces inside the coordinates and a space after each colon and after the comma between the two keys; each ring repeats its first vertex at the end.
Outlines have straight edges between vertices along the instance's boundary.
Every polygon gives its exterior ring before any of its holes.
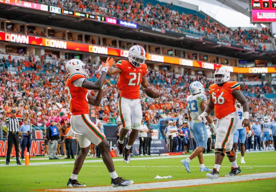
{"type": "MultiPolygon", "coordinates": [[[[30,123],[37,126],[49,126],[50,120],[63,123],[70,118],[67,95],[64,92],[66,74],[63,59],[55,59],[52,63],[45,62],[45,55],[41,60],[33,62],[33,58],[25,60],[0,59],[0,110],[10,112],[17,109],[17,115],[22,116],[26,110],[30,113],[30,123]],[[10,60],[10,61],[9,61],[10,60]],[[18,74],[7,71],[7,66],[16,67],[18,74]]],[[[87,62],[90,80],[99,77],[97,68],[87,62]]],[[[187,106],[185,98],[189,93],[189,84],[195,80],[202,82],[204,87],[212,84],[212,78],[204,75],[192,76],[189,68],[184,75],[174,71],[153,70],[149,68],[146,75],[151,85],[160,90],[161,97],[152,99],[140,90],[141,104],[145,121],[158,124],[159,118],[187,119],[187,106]]],[[[96,107],[97,117],[105,122],[119,122],[118,97],[116,85],[118,76],[109,76],[104,88],[104,96],[99,107],[96,107]]],[[[271,119],[275,116],[275,103],[264,98],[266,93],[275,93],[275,85],[248,86],[241,85],[250,105],[252,119],[263,118],[268,115],[271,119]],[[256,97],[250,97],[255,94],[256,97]],[[268,109],[268,110],[267,110],[268,109]]],[[[95,95],[91,91],[91,95],[95,95]]],[[[208,94],[207,94],[208,95],[208,94]]],[[[209,96],[209,95],[208,95],[209,96]]],[[[2,122],[3,123],[3,122],[2,122]]]]}

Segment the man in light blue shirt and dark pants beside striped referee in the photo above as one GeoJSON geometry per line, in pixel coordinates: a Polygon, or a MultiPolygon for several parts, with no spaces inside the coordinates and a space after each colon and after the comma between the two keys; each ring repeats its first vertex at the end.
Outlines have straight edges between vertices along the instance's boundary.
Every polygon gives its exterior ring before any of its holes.
{"type": "Polygon", "coordinates": [[[22,141],[21,141],[21,159],[24,160],[24,151],[27,147],[27,151],[30,154],[30,147],[31,147],[31,127],[28,125],[27,121],[24,121],[24,124],[20,126],[19,134],[22,134],[22,141]]]}

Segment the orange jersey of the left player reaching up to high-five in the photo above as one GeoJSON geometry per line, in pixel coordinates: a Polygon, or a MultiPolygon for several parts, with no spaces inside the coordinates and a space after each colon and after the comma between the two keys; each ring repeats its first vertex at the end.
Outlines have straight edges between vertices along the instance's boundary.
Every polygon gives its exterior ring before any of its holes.
{"type": "Polygon", "coordinates": [[[89,114],[88,108],[88,90],[83,87],[75,87],[72,82],[86,77],[82,73],[71,74],[64,87],[68,100],[70,102],[70,110],[73,115],[89,114]]]}

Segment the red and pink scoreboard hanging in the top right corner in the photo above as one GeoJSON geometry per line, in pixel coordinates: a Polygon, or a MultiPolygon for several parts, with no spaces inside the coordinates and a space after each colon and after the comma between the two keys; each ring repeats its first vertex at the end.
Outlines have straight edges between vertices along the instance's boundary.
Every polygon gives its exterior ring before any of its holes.
{"type": "Polygon", "coordinates": [[[275,22],[276,0],[251,0],[252,22],[275,22]]]}

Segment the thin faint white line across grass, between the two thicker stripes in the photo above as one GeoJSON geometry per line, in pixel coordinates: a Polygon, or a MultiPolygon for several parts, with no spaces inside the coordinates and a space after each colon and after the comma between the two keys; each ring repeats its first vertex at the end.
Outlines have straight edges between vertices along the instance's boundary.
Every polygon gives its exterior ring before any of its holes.
{"type": "MultiPolygon", "coordinates": [[[[34,166],[57,166],[57,167],[74,167],[74,165],[34,165],[34,166]]],[[[213,167],[214,165],[205,165],[206,167],[213,167]]],[[[105,165],[83,165],[82,167],[106,167],[105,165]]],[[[116,167],[183,167],[184,166],[123,166],[123,165],[118,165],[116,167]]],[[[189,166],[189,167],[198,167],[200,166],[189,166]]],[[[230,166],[220,166],[220,167],[230,167],[230,166]]],[[[256,166],[242,166],[240,165],[241,168],[243,167],[276,167],[276,165],[256,165],[256,166]]]]}

